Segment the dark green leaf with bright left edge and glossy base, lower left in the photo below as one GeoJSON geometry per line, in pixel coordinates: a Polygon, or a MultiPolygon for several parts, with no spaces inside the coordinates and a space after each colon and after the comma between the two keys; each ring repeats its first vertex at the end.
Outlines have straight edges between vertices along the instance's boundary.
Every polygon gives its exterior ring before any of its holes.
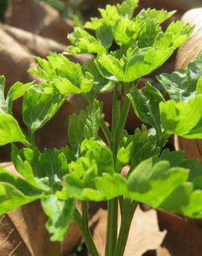
{"type": "Polygon", "coordinates": [[[12,161],[17,171],[35,188],[44,192],[56,191],[68,173],[66,156],[57,149],[20,149],[12,145],[12,161]]]}

